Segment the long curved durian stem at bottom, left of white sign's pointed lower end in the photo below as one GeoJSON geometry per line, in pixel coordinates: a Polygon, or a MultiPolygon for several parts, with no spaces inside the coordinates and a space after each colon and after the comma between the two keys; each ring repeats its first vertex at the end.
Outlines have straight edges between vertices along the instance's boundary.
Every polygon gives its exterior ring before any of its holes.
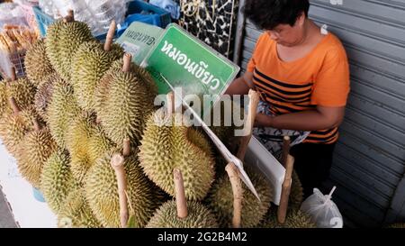
{"type": "Polygon", "coordinates": [[[240,182],[240,178],[238,176],[238,169],[230,162],[225,170],[228,173],[230,185],[232,186],[233,192],[233,218],[232,218],[232,227],[239,228],[241,223],[242,217],[242,199],[243,199],[243,189],[242,183],[240,182]]]}

